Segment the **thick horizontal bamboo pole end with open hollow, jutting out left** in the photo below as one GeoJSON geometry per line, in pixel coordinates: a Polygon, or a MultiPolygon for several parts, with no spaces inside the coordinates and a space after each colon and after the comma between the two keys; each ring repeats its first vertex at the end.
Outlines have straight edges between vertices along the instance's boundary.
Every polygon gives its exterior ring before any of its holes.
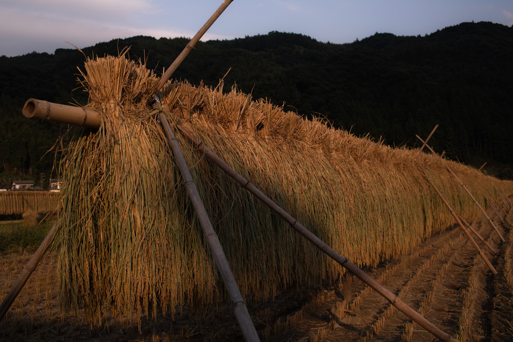
{"type": "Polygon", "coordinates": [[[100,113],[83,107],[67,106],[48,101],[28,99],[23,106],[23,115],[43,121],[59,122],[75,126],[100,127],[100,113]]]}

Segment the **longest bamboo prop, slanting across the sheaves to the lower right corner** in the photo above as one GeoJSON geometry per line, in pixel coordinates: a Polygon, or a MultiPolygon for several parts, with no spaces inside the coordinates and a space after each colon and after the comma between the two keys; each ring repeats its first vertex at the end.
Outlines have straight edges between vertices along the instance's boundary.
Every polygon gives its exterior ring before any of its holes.
{"type": "Polygon", "coordinates": [[[255,195],[259,200],[261,200],[264,204],[270,207],[275,213],[277,213],[280,217],[282,217],[285,221],[287,221],[290,226],[305,237],[308,241],[310,241],[314,246],[323,251],[326,255],[328,255],[333,260],[337,261],[342,267],[346,270],[360,278],[363,282],[365,282],[369,287],[374,289],[380,295],[385,297],[394,307],[403,312],[406,316],[410,317],[412,320],[417,322],[421,327],[429,331],[431,334],[436,336],[438,339],[442,341],[451,341],[455,342],[457,339],[452,338],[449,334],[443,332],[435,325],[433,325],[430,321],[420,315],[417,311],[411,309],[405,302],[403,302],[396,295],[388,291],[384,288],[379,282],[374,280],[372,277],[363,272],[360,268],[358,268],[355,264],[353,264],[346,257],[338,254],[334,251],[330,246],[324,243],[321,239],[311,233],[305,226],[303,226],[297,219],[293,218],[284,211],[278,204],[274,203],[269,197],[263,194],[260,189],[255,187],[251,182],[241,175],[239,175],[233,168],[231,168],[228,164],[226,164],[221,158],[216,156],[210,149],[208,149],[203,142],[198,140],[196,137],[192,136],[185,128],[179,126],[179,129],[182,131],[184,136],[191,141],[203,155],[205,155],[210,161],[218,165],[227,175],[233,178],[236,182],[238,182],[242,187],[244,187],[247,191],[255,195]]]}

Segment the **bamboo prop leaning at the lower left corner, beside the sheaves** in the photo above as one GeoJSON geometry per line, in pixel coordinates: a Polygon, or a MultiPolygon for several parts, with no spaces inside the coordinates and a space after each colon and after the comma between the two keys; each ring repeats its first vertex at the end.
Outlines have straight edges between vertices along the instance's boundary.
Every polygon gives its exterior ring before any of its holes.
{"type": "Polygon", "coordinates": [[[59,221],[55,222],[46,235],[43,242],[40,244],[37,251],[35,251],[32,258],[29,260],[29,262],[25,265],[25,268],[23,269],[22,273],[19,275],[18,280],[14,283],[14,285],[11,288],[11,291],[7,294],[2,304],[0,304],[0,320],[2,320],[9,311],[9,308],[11,307],[12,303],[14,302],[14,299],[18,296],[19,292],[22,291],[23,287],[25,286],[25,283],[30,278],[32,273],[37,268],[37,265],[43,258],[43,255],[45,255],[46,250],[50,246],[50,243],[53,240],[53,237],[55,236],[55,232],[57,231],[59,221]]]}

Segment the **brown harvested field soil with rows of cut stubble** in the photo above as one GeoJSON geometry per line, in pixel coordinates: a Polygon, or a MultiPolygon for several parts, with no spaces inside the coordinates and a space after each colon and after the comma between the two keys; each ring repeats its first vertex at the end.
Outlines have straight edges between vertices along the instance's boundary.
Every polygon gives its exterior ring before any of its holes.
{"type": "MultiPolygon", "coordinates": [[[[491,215],[506,242],[486,219],[472,226],[498,253],[476,241],[497,269],[492,275],[473,245],[455,226],[424,241],[417,249],[377,268],[365,270],[442,331],[465,341],[513,340],[513,299],[505,272],[513,236],[508,223],[491,215]]],[[[512,212],[507,220],[513,221],[512,212]]],[[[5,298],[31,255],[2,256],[0,290],[5,298]]],[[[511,275],[509,274],[509,277],[511,275]]],[[[56,270],[45,256],[0,322],[5,341],[210,341],[243,340],[228,305],[183,312],[173,320],[108,318],[86,324],[81,312],[58,308],[56,270]]],[[[359,279],[344,279],[308,291],[291,289],[274,300],[247,298],[253,322],[267,341],[432,341],[426,332],[359,279]]]]}

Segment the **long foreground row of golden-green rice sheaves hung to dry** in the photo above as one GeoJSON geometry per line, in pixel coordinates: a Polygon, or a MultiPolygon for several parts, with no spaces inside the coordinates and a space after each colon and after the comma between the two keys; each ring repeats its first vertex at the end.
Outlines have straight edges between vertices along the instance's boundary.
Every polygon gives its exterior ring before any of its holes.
{"type": "Polygon", "coordinates": [[[57,235],[64,308],[155,315],[226,298],[207,244],[156,122],[165,112],[191,168],[242,294],[258,299],[336,278],[327,260],[264,204],[198,154],[176,125],[198,136],[237,172],[357,265],[376,265],[453,224],[416,163],[468,221],[480,213],[450,165],[483,205],[486,189],[513,183],[415,151],[392,149],[325,122],[305,120],[223,85],[168,83],[162,108],[148,106],[157,79],[122,55],[88,60],[88,108],[98,132],[71,143],[57,235]]]}

